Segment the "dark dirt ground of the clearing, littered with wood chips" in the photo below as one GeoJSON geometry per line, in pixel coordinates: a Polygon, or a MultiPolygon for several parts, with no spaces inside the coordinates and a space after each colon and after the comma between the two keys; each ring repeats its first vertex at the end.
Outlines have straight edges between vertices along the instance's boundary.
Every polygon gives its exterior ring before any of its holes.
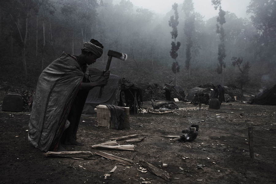
{"type": "MultiPolygon", "coordinates": [[[[276,106],[223,103],[209,109],[176,102],[171,114],[130,115],[129,130],[97,126],[97,117],[82,116],[78,140],[84,146],[66,146],[68,151],[91,151],[92,159],[46,157],[28,142],[30,113],[0,111],[0,184],[8,183],[276,183],[276,106]],[[174,142],[167,135],[181,136],[191,124],[199,125],[196,140],[174,142]],[[249,155],[248,127],[253,127],[254,160],[249,155]],[[139,134],[134,151],[96,150],[91,146],[114,137],[139,134]],[[133,158],[131,166],[101,159],[96,151],[133,158]],[[183,159],[185,158],[185,159],[183,159]],[[139,160],[172,173],[171,181],[147,171],[138,171],[139,160]],[[201,165],[200,165],[201,164],[201,165]],[[117,169],[110,173],[113,167],[117,169]],[[201,167],[200,167],[201,166],[201,167]],[[104,174],[110,174],[105,179],[104,174]]],[[[144,102],[144,108],[152,108],[144,102]]],[[[120,143],[120,141],[117,141],[120,143]]]]}

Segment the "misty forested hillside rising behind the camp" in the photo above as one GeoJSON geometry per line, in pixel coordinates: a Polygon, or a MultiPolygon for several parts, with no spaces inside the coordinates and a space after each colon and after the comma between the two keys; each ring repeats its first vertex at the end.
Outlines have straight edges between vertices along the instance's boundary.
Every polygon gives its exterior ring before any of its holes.
{"type": "Polygon", "coordinates": [[[114,59],[110,71],[132,82],[173,81],[185,90],[273,86],[275,0],[251,0],[244,10],[250,19],[209,1],[217,16],[205,21],[192,0],[173,3],[164,16],[129,0],[1,0],[1,83],[35,89],[49,63],[63,51],[80,54],[94,38],[104,53],[92,67],[104,70],[108,50],[124,52],[128,59],[114,59]]]}

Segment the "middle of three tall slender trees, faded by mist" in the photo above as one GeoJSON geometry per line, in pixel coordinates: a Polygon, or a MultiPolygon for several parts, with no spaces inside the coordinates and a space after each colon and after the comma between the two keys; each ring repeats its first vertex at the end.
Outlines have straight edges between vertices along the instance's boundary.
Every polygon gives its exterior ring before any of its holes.
{"type": "Polygon", "coordinates": [[[195,14],[194,14],[194,3],[193,0],[184,0],[182,10],[185,13],[185,22],[184,22],[184,33],[186,36],[186,59],[185,66],[189,71],[189,79],[191,78],[191,59],[192,53],[191,48],[193,47],[193,33],[195,30],[195,14]]]}

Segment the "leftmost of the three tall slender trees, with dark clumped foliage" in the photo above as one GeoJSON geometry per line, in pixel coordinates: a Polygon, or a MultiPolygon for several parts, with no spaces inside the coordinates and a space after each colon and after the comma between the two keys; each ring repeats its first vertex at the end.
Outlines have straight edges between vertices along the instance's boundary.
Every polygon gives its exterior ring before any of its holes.
{"type": "Polygon", "coordinates": [[[176,61],[176,58],[178,56],[178,49],[180,47],[180,42],[176,42],[176,37],[178,35],[178,31],[177,31],[177,26],[178,26],[178,11],[177,11],[177,7],[178,7],[178,4],[177,3],[174,3],[172,5],[172,10],[174,10],[174,15],[172,15],[170,17],[170,20],[169,20],[169,26],[172,27],[172,31],[171,31],[171,39],[174,39],[174,41],[171,42],[171,51],[170,51],[170,56],[172,59],[174,59],[174,62],[171,66],[171,69],[172,71],[174,72],[175,74],[175,84],[177,85],[177,78],[176,78],[176,74],[177,72],[179,72],[179,64],[178,62],[176,61]]]}

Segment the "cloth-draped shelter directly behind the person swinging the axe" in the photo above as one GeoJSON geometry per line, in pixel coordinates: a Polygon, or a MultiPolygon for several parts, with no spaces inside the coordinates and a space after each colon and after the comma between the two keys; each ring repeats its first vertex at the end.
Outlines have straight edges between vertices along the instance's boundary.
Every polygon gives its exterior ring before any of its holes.
{"type": "MultiPolygon", "coordinates": [[[[102,71],[89,68],[89,75],[91,81],[96,81],[102,71]]],[[[110,74],[108,83],[104,86],[101,98],[99,98],[100,87],[94,87],[89,91],[86,98],[82,115],[95,116],[94,108],[97,105],[116,105],[128,106],[130,110],[137,110],[142,105],[140,88],[129,80],[120,76],[110,74]]]]}

